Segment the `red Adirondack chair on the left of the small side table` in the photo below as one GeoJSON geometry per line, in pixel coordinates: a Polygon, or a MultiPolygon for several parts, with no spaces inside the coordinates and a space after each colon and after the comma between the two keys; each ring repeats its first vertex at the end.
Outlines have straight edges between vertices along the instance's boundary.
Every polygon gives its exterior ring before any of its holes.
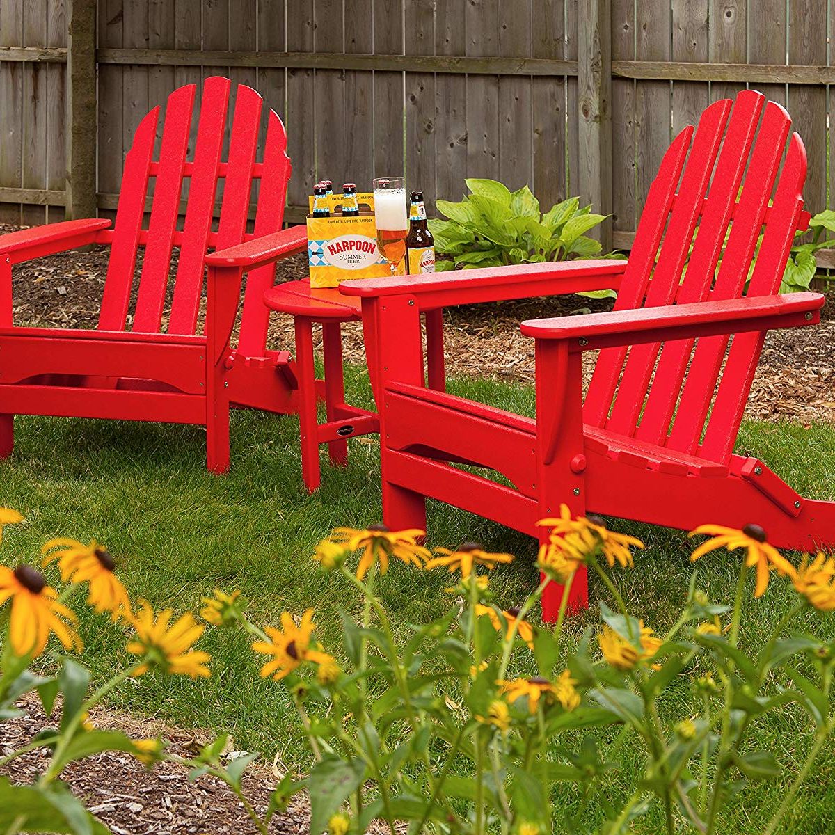
{"type": "Polygon", "coordinates": [[[229,467],[230,405],[296,410],[290,356],[266,350],[269,311],[262,301],[274,280],[274,262],[306,248],[304,227],[281,230],[291,171],[286,131],[270,110],[263,154],[256,161],[261,96],[238,86],[227,132],[230,91],[228,78],[206,79],[191,159],[195,84],[170,94],[156,159],[159,107],[144,117],[125,160],[113,230],[109,220],[69,220],[0,237],[0,457],[12,452],[15,414],[198,423],[206,427],[207,465],[222,473],[229,467]],[[229,152],[222,159],[226,135],[229,152]],[[220,179],[225,187],[215,231],[220,179]],[[184,180],[189,185],[179,230],[184,180]],[[254,233],[248,233],[256,180],[258,208],[254,233]],[[110,245],[98,328],[13,326],[12,266],[91,243],[110,245]],[[132,308],[139,246],[144,261],[132,308]],[[174,247],[179,261],[164,326],[174,247]],[[210,248],[215,253],[207,259],[210,248]],[[199,333],[207,264],[205,325],[199,333]],[[240,335],[231,350],[247,271],[240,335]]]}

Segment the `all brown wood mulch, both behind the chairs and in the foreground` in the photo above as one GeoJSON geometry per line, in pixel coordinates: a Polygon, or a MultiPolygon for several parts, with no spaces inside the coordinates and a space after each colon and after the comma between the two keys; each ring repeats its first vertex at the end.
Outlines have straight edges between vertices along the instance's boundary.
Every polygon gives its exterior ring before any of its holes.
{"type": "MultiPolygon", "coordinates": [[[[12,227],[0,225],[0,233],[12,227]]],[[[283,261],[278,281],[305,276],[306,257],[283,261]]],[[[50,256],[13,271],[15,321],[27,325],[93,327],[107,271],[106,251],[89,251],[50,256]]],[[[757,371],[746,409],[748,417],[776,420],[791,417],[804,424],[816,419],[835,423],[835,297],[822,313],[819,326],[773,331],[757,371]]],[[[488,376],[512,382],[533,382],[533,343],[519,332],[519,322],[539,316],[565,316],[588,310],[607,310],[610,301],[587,300],[579,296],[461,307],[446,312],[446,354],[452,374],[488,376]]],[[[271,345],[292,347],[289,317],[273,316],[271,345]]],[[[347,360],[363,362],[362,329],[345,328],[347,360]]],[[[584,372],[590,376],[595,357],[584,357],[584,372]]],[[[36,701],[26,703],[27,714],[0,724],[0,756],[24,744],[48,720],[36,701]]],[[[172,741],[175,751],[195,752],[194,733],[159,726],[154,720],[99,711],[97,726],[118,727],[134,737],[161,735],[172,741]]],[[[199,736],[199,735],[198,735],[199,736]]],[[[33,751],[7,773],[20,782],[32,782],[47,760],[44,751],[33,751]]],[[[159,763],[147,771],[126,754],[101,754],[73,764],[65,775],[73,792],[116,835],[152,833],[256,832],[237,798],[220,782],[200,777],[188,782],[185,768],[159,763]]],[[[255,765],[245,777],[245,788],[256,808],[268,802],[276,776],[267,767],[255,765]]],[[[307,832],[309,811],[304,800],[276,817],[271,831],[307,832]]]]}

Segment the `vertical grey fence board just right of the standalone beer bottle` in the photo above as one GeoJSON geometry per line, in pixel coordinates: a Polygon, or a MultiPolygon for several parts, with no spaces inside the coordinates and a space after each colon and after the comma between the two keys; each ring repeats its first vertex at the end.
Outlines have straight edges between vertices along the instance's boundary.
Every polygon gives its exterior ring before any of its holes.
{"type": "MultiPolygon", "coordinates": [[[[435,5],[435,53],[463,55],[464,4],[460,0],[437,0],[435,5]]],[[[442,164],[435,170],[434,200],[461,200],[467,171],[467,78],[463,75],[435,77],[436,149],[442,164]]],[[[430,210],[430,207],[427,207],[430,210]]]]}

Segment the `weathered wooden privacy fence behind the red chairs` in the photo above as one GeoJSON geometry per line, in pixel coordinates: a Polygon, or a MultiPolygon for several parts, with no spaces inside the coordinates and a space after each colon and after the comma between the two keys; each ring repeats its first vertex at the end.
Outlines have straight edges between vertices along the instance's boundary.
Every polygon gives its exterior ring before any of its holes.
{"type": "Polygon", "coordinates": [[[324,177],[405,170],[430,204],[493,177],[626,247],[671,137],[746,86],[790,109],[816,211],[832,28],[835,0],[0,0],[0,221],[112,211],[139,119],[214,73],[285,119],[288,220],[324,177]]]}

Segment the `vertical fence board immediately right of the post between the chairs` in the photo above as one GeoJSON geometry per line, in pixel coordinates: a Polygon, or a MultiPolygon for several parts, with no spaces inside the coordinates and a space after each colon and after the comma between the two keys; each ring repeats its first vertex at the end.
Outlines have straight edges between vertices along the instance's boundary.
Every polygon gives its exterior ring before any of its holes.
{"type": "MultiPolygon", "coordinates": [[[[612,0],[612,60],[635,60],[635,3],[612,0]]],[[[612,79],[612,225],[634,231],[635,81],[612,79]]]]}

